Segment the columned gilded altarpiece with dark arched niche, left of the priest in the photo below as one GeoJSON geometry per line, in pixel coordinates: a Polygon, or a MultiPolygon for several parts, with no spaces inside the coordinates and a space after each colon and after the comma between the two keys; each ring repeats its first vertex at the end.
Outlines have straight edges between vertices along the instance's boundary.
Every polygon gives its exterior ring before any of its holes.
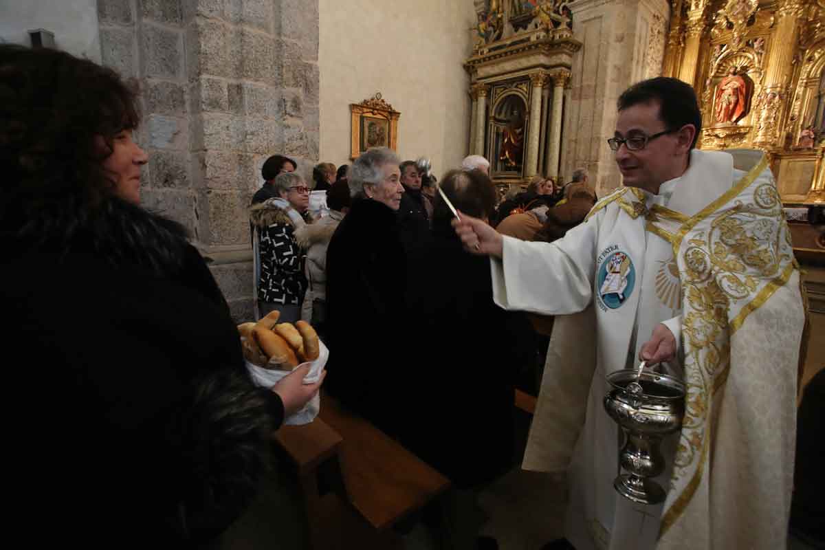
{"type": "Polygon", "coordinates": [[[470,75],[470,153],[490,161],[500,192],[557,177],[564,93],[573,54],[568,2],[476,2],[470,75]]]}

